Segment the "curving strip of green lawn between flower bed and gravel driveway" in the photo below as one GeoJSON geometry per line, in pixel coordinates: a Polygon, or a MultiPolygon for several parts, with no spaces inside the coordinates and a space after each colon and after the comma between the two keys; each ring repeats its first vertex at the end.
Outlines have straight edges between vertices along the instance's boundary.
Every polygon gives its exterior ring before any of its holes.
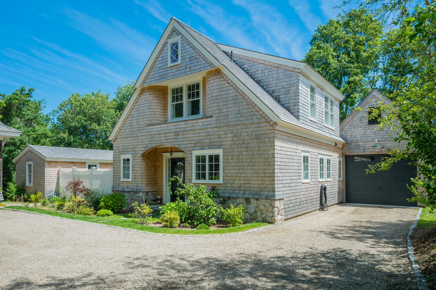
{"type": "MultiPolygon", "coordinates": [[[[243,232],[249,229],[258,228],[260,226],[267,226],[268,223],[246,223],[242,226],[235,226],[232,228],[224,228],[224,229],[209,229],[209,230],[191,230],[191,229],[166,229],[157,226],[147,226],[140,225],[134,223],[132,219],[120,219],[122,217],[129,217],[127,213],[116,214],[113,216],[107,217],[99,217],[99,216],[82,216],[82,215],[73,215],[71,213],[59,212],[51,209],[35,209],[31,207],[24,206],[5,206],[6,209],[21,209],[28,212],[38,212],[44,213],[49,216],[59,216],[67,219],[78,219],[91,223],[99,223],[99,221],[107,221],[102,222],[105,225],[111,226],[121,226],[123,228],[129,229],[138,229],[141,231],[152,232],[152,233],[167,233],[167,234],[177,234],[177,235],[208,235],[208,234],[223,234],[223,233],[236,233],[243,232]],[[95,219],[95,220],[92,220],[95,219]]],[[[150,221],[157,221],[158,218],[151,218],[150,221]]]]}

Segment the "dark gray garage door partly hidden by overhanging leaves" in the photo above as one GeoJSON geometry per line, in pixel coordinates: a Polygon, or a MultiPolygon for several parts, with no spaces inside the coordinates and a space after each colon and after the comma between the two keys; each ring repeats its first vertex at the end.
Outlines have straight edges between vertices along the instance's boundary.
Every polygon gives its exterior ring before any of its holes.
{"type": "Polygon", "coordinates": [[[350,203],[416,206],[406,199],[413,196],[407,188],[410,178],[416,177],[416,166],[407,160],[395,163],[388,171],[366,174],[368,165],[381,161],[386,155],[345,156],[345,199],[350,203]]]}

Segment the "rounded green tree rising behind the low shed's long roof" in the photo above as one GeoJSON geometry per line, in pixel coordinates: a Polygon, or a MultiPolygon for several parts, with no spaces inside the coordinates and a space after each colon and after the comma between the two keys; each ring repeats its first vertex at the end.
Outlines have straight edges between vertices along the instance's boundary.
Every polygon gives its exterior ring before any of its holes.
{"type": "Polygon", "coordinates": [[[71,94],[53,110],[52,146],[112,150],[107,140],[119,114],[101,91],[71,94]]]}

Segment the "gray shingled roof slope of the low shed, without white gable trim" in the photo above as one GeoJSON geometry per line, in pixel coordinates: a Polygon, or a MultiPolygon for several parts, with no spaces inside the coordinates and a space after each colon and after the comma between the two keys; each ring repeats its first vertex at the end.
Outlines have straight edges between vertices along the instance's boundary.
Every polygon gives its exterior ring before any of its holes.
{"type": "Polygon", "coordinates": [[[96,150],[82,148],[65,148],[28,145],[45,158],[66,158],[66,159],[89,159],[89,160],[113,160],[112,150],[96,150]]]}

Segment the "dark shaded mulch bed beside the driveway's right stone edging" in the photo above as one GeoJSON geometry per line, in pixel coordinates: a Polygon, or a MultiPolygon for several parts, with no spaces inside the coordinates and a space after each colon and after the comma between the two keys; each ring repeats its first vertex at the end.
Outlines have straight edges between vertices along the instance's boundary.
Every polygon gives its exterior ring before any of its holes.
{"type": "Polygon", "coordinates": [[[415,228],[411,238],[421,272],[427,277],[429,288],[436,290],[436,226],[415,228]]]}

